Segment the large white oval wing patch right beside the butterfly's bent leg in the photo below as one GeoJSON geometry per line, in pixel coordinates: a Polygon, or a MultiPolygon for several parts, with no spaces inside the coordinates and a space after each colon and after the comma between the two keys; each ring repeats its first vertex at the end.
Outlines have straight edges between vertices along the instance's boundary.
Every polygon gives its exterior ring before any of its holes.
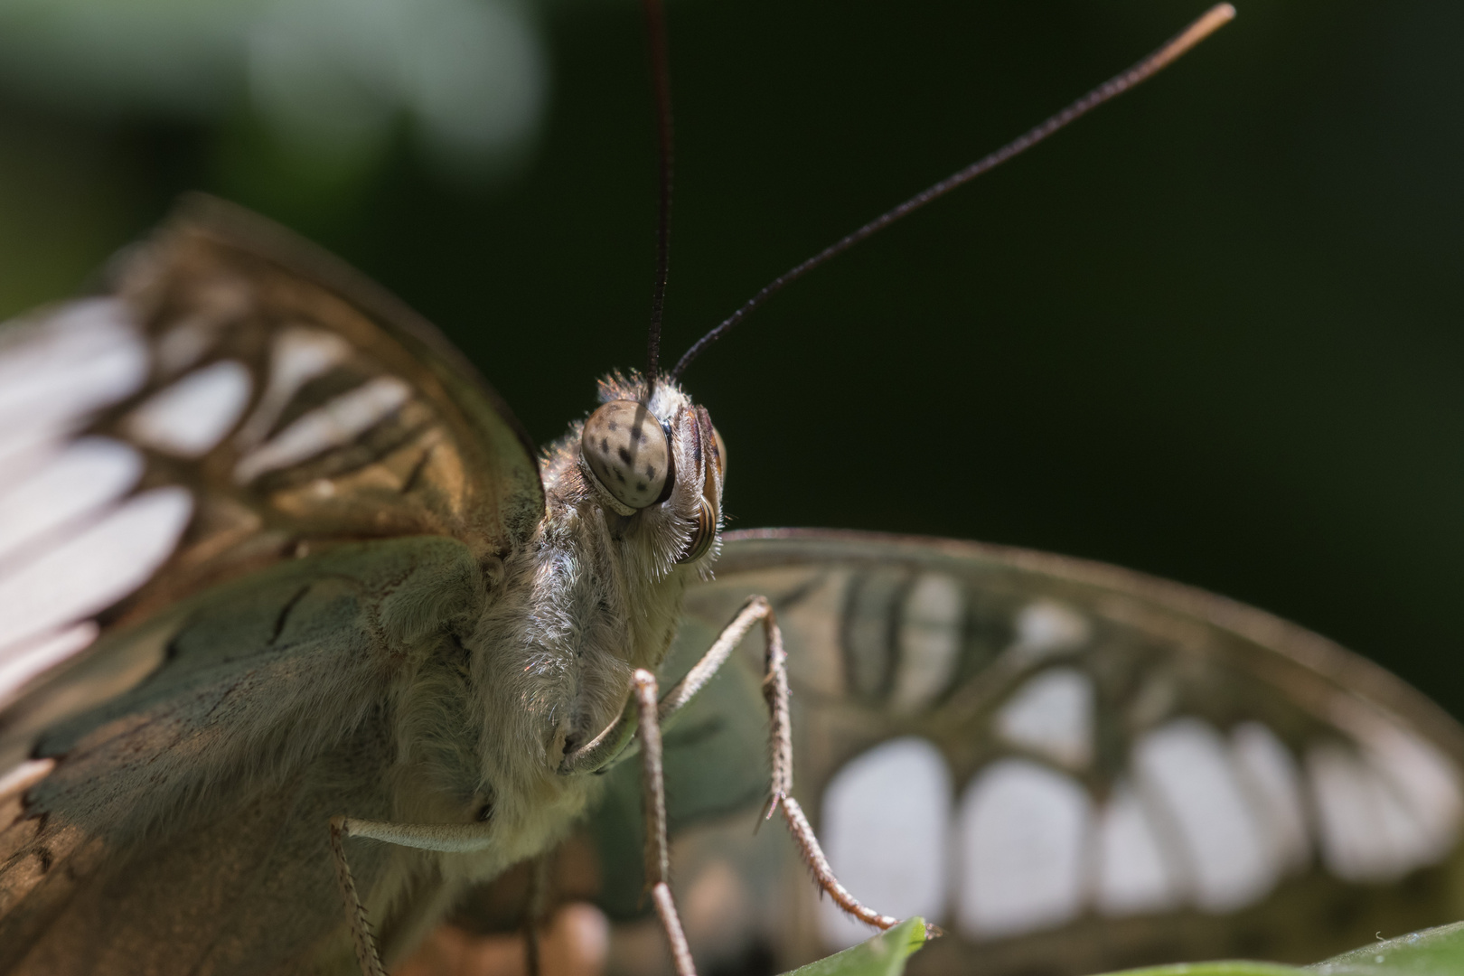
{"type": "MultiPolygon", "coordinates": [[[[940,917],[947,891],[940,841],[950,831],[950,770],[934,745],[914,736],[884,742],[824,789],[820,834],[829,863],[851,891],[878,891],[881,912],[940,917]]],[[[829,948],[870,936],[832,901],[820,903],[818,929],[829,948]]]]}

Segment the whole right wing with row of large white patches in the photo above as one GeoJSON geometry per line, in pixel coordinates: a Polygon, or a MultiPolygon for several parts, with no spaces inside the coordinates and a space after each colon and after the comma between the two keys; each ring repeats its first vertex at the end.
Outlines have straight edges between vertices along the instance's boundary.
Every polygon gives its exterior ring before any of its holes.
{"type": "MultiPolygon", "coordinates": [[[[1315,634],[1042,553],[731,533],[671,673],[754,593],[788,648],[795,793],[856,896],[947,931],[921,969],[1310,961],[1464,907],[1464,733],[1315,634]]],[[[766,726],[748,644],[668,735],[668,795],[698,958],[776,972],[865,932],[818,901],[782,831],[751,834],[766,726]]],[[[618,796],[606,859],[630,822],[618,796]]],[[[612,915],[631,894],[606,893],[612,915]]]]}

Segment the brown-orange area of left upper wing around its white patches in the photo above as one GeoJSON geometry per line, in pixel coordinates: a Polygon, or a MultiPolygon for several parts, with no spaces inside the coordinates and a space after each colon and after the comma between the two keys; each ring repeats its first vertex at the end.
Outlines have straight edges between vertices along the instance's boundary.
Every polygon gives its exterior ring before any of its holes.
{"type": "Polygon", "coordinates": [[[168,350],[195,350],[187,370],[236,360],[255,379],[239,427],[205,455],[148,452],[143,484],[187,484],[198,512],[170,565],[117,616],[136,619],[335,540],[442,534],[480,559],[502,556],[542,515],[533,445],[507,405],[429,323],[329,255],[196,196],[117,268],[116,291],[155,364],[98,433],[127,439],[126,417],[182,372],[168,369],[168,350]],[[284,402],[265,404],[290,335],[310,332],[344,339],[338,359],[284,402]],[[363,430],[285,462],[247,464],[309,416],[392,380],[404,395],[363,430]]]}

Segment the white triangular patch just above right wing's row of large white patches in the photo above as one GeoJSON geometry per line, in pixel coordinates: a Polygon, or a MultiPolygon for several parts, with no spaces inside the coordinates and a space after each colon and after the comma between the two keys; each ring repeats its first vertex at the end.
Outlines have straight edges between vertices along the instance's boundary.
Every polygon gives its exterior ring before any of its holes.
{"type": "Polygon", "coordinates": [[[1094,683],[1073,667],[1029,677],[996,716],[997,733],[1073,770],[1094,755],[1094,683]]]}

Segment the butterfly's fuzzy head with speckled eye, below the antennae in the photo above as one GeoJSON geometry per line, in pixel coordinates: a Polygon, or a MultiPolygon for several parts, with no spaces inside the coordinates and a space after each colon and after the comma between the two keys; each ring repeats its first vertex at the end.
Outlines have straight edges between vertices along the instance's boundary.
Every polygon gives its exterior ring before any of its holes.
{"type": "Polygon", "coordinates": [[[726,449],[706,407],[660,382],[647,401],[638,378],[609,376],[578,438],[584,486],[612,518],[643,534],[656,556],[695,563],[722,522],[726,449]]]}

